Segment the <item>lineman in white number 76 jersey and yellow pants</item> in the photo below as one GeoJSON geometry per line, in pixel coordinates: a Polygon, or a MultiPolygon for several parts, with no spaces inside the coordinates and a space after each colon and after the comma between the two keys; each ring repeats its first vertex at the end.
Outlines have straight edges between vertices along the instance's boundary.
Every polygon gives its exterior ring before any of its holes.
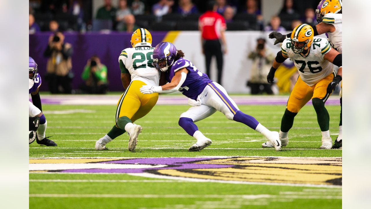
{"type": "MultiPolygon", "coordinates": [[[[282,146],[288,144],[288,132],[292,128],[294,117],[299,110],[312,99],[317,114],[317,121],[322,132],[321,149],[330,149],[332,140],[329,132],[329,114],[325,102],[331,93],[328,85],[333,82],[335,73],[333,64],[342,70],[342,55],[331,48],[325,38],[313,38],[313,28],[307,24],[296,26],[291,38],[285,39],[282,49],[277,53],[273,66],[267,75],[269,83],[273,83],[276,69],[283,61],[290,58],[299,71],[298,80],[290,94],[279,131],[282,146]]],[[[265,142],[263,147],[271,147],[265,142]]]]}

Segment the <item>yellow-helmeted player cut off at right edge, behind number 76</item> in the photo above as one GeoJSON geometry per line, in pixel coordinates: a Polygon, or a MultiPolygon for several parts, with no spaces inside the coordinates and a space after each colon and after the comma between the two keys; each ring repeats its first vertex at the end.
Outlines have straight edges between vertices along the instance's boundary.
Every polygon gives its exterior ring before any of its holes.
{"type": "MultiPolygon", "coordinates": [[[[342,53],[342,1],[321,0],[316,9],[318,25],[313,28],[314,36],[326,33],[332,48],[342,53]]],[[[276,38],[275,45],[291,37],[291,33],[282,35],[279,32],[272,32],[269,38],[276,38]]],[[[340,68],[334,80],[328,85],[328,93],[332,93],[342,80],[342,69],[340,68]]],[[[340,122],[339,136],[335,139],[332,149],[342,148],[342,90],[340,91],[340,122]]],[[[263,144],[265,147],[265,143],[263,144]]]]}

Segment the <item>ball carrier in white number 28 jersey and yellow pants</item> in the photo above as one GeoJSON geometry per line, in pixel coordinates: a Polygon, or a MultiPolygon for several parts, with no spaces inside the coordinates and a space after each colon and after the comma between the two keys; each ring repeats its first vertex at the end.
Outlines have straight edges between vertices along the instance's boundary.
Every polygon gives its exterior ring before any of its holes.
{"type": "Polygon", "coordinates": [[[134,151],[142,126],[135,120],[147,115],[155,106],[158,93],[142,94],[143,85],[158,86],[160,72],[152,66],[153,47],[151,33],[139,28],[131,36],[132,48],[124,49],[119,58],[122,85],[126,89],[121,95],[116,109],[116,124],[111,131],[95,143],[95,149],[106,149],[106,144],[127,131],[130,135],[128,148],[134,151]]]}

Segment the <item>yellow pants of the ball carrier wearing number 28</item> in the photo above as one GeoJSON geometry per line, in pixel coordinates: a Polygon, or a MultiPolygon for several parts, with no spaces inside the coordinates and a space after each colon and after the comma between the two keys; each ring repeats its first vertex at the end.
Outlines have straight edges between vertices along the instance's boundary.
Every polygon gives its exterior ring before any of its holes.
{"type": "Polygon", "coordinates": [[[118,118],[127,116],[134,122],[147,115],[156,105],[158,93],[142,94],[139,89],[143,85],[147,84],[142,81],[134,80],[130,83],[126,91],[121,94],[116,109],[116,126],[118,118]]]}

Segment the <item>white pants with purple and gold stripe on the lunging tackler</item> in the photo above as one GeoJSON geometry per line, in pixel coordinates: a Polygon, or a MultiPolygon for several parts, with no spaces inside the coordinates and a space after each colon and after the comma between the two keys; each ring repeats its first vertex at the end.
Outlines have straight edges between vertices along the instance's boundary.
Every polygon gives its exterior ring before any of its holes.
{"type": "Polygon", "coordinates": [[[227,119],[233,120],[233,116],[239,111],[227,91],[216,82],[207,84],[198,98],[201,100],[201,105],[191,107],[187,112],[182,113],[180,118],[191,118],[193,122],[197,122],[213,115],[218,110],[227,119]]]}

